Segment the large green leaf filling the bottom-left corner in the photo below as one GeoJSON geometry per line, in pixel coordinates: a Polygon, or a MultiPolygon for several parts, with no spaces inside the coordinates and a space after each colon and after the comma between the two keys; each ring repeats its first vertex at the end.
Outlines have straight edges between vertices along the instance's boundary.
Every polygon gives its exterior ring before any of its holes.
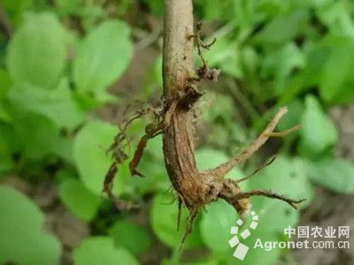
{"type": "Polygon", "coordinates": [[[61,246],[43,229],[44,216],[33,201],[0,186],[0,263],[58,264],[61,246]]]}

